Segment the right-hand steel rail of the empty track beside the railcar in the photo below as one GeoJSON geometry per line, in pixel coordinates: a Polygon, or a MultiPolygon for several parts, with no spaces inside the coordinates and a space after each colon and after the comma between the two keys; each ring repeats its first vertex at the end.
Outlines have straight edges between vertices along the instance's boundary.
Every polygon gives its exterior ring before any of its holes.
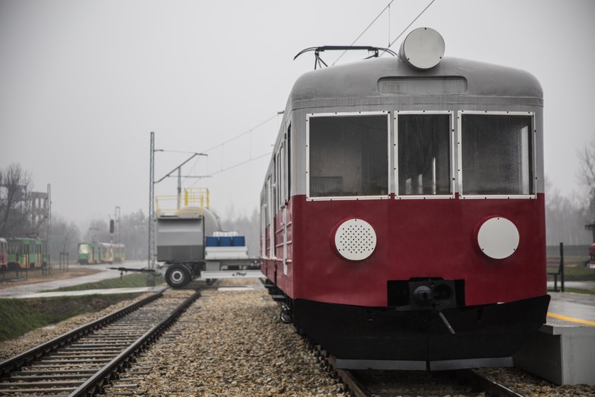
{"type": "Polygon", "coordinates": [[[162,320],[161,323],[155,325],[153,328],[145,332],[140,338],[138,338],[132,345],[126,350],[118,354],[111,362],[108,362],[102,369],[97,371],[91,378],[87,379],[84,384],[81,384],[76,390],[72,391],[68,397],[82,397],[82,396],[93,396],[99,391],[106,382],[110,381],[115,374],[118,373],[123,367],[125,367],[130,359],[140,352],[146,345],[152,342],[155,338],[169,327],[171,323],[178,318],[178,316],[188,307],[196,301],[200,296],[200,292],[196,291],[190,298],[183,301],[174,311],[171,312],[168,318],[162,320]]]}

